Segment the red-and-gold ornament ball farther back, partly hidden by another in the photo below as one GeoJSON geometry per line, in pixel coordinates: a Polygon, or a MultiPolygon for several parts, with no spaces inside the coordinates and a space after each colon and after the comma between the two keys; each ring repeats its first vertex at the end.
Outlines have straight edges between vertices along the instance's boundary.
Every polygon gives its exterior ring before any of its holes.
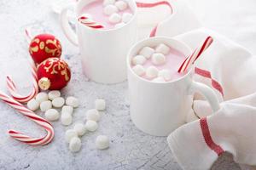
{"type": "Polygon", "coordinates": [[[61,42],[50,34],[39,34],[32,39],[29,45],[29,53],[36,64],[45,59],[61,57],[61,42]]]}

